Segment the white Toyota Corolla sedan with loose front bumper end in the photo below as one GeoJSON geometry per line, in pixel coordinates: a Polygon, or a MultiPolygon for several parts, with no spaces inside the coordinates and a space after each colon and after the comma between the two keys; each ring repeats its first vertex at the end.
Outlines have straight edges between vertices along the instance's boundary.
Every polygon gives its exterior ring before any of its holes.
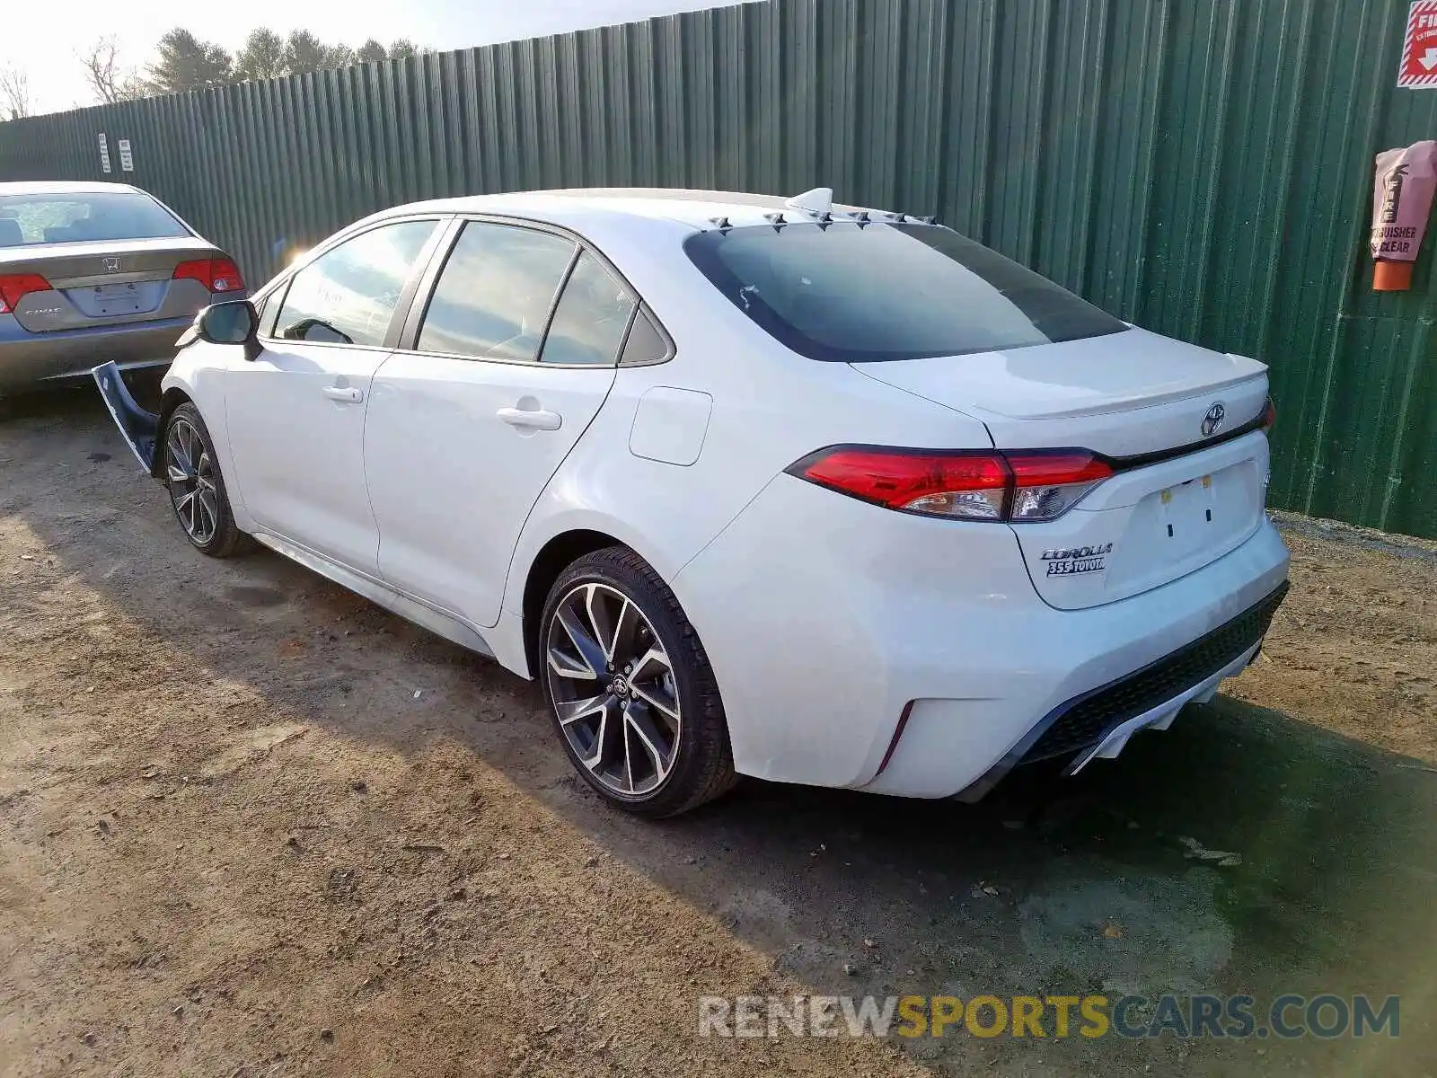
{"type": "Polygon", "coordinates": [[[604,798],[981,796],[1167,727],[1286,591],[1266,368],[927,218],[713,191],[404,206],[96,381],[190,542],[543,684],[604,798]]]}

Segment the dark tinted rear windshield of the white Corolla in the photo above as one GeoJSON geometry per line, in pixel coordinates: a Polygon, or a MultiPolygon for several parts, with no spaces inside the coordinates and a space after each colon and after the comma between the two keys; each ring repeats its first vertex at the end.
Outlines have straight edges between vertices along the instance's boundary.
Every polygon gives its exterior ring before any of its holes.
{"type": "Polygon", "coordinates": [[[810,359],[879,362],[1025,348],[1127,326],[933,224],[711,230],[688,257],[734,306],[810,359]]]}

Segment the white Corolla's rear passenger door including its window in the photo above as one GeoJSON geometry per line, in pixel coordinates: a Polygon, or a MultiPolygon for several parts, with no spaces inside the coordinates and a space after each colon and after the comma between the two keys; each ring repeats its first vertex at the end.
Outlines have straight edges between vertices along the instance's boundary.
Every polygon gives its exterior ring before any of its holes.
{"type": "Polygon", "coordinates": [[[410,348],[374,379],[365,471],[388,582],[499,621],[519,532],[614,385],[635,306],[570,236],[463,224],[410,348]]]}

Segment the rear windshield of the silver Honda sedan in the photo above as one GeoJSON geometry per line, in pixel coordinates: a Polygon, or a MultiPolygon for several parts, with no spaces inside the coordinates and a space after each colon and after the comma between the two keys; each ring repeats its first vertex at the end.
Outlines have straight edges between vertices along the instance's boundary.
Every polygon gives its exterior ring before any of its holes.
{"type": "Polygon", "coordinates": [[[0,194],[0,247],[188,236],[174,214],[147,194],[0,194]]]}

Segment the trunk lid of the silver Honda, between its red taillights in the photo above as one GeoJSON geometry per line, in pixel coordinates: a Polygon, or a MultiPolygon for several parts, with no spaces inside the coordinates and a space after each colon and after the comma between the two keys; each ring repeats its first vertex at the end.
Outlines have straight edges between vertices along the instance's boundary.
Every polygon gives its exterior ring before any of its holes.
{"type": "Polygon", "coordinates": [[[50,290],[32,292],[16,321],[32,333],[147,322],[193,313],[211,302],[195,280],[171,280],[175,266],[224,257],[190,236],[148,240],[30,244],[0,249],[0,273],[37,273],[50,290]]]}

